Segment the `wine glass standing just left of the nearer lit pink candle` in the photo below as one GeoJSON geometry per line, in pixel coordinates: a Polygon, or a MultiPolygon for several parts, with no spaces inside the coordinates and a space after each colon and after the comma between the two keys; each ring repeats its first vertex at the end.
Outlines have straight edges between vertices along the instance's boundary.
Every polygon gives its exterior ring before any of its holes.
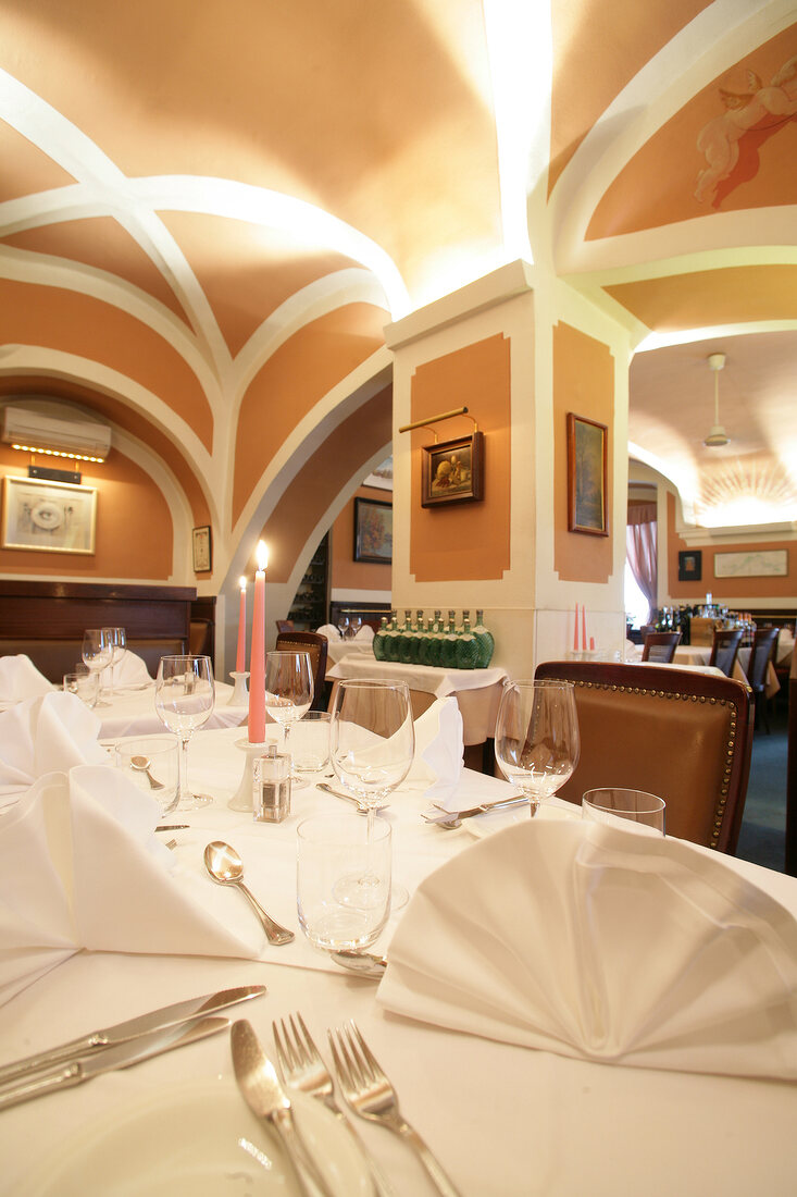
{"type": "Polygon", "coordinates": [[[177,810],[196,810],[213,802],[209,794],[188,789],[188,741],[211,717],[215,703],[209,657],[162,657],[156,679],[156,711],[180,740],[177,810]]]}

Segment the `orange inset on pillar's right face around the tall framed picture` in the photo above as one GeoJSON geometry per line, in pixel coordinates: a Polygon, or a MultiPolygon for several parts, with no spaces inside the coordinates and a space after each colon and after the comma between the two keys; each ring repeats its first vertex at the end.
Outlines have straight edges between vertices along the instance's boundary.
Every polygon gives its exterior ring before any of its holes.
{"type": "Polygon", "coordinates": [[[612,535],[567,530],[567,413],[606,424],[608,436],[607,523],[614,496],[614,358],[602,341],[559,323],[553,329],[554,411],[554,566],[567,582],[608,582],[612,535]]]}

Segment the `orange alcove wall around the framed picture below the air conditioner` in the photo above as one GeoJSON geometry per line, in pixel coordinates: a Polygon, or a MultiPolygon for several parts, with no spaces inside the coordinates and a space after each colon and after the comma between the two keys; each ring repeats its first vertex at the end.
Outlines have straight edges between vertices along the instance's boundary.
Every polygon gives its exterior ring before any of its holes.
{"type": "MultiPolygon", "coordinates": [[[[0,445],[0,473],[25,478],[29,460],[0,445]]],[[[20,577],[139,578],[168,582],[174,529],[163,493],[148,474],[114,450],[103,466],[87,466],[84,486],[97,488],[97,537],[92,557],[0,548],[0,573],[20,577]]],[[[4,512],[5,515],[5,512],[4,512]]]]}

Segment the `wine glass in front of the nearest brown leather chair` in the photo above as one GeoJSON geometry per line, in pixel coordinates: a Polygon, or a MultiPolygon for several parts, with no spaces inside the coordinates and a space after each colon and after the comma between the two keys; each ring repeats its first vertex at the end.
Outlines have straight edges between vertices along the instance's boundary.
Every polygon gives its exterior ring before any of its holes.
{"type": "Polygon", "coordinates": [[[510,681],[495,721],[495,760],[529,798],[531,818],[578,764],[580,741],[573,683],[510,681]]]}

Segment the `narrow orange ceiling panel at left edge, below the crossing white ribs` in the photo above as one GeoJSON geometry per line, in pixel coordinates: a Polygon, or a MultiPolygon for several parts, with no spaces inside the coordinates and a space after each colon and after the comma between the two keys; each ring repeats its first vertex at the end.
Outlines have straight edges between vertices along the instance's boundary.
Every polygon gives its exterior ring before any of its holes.
{"type": "Polygon", "coordinates": [[[13,233],[4,237],[2,242],[17,249],[67,257],[115,274],[147,292],[185,321],[185,314],[162,272],[112,217],[63,220],[13,233]]]}

